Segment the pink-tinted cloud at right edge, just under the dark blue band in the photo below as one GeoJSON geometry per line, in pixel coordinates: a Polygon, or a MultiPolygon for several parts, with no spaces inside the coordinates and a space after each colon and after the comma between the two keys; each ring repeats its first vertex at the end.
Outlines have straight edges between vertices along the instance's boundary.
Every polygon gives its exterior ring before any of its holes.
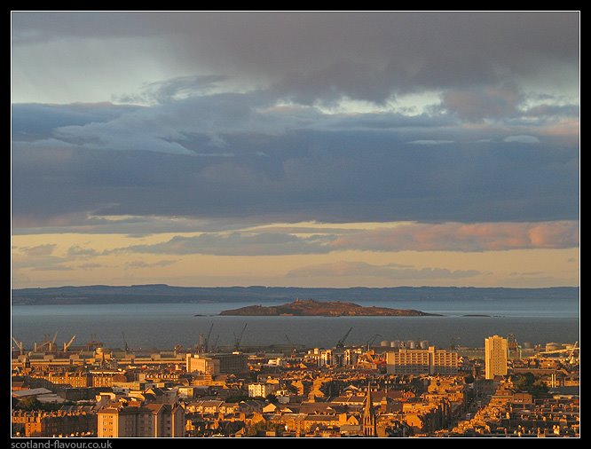
{"type": "Polygon", "coordinates": [[[409,224],[348,234],[335,249],[373,251],[500,251],[579,246],[577,222],[409,224]]]}

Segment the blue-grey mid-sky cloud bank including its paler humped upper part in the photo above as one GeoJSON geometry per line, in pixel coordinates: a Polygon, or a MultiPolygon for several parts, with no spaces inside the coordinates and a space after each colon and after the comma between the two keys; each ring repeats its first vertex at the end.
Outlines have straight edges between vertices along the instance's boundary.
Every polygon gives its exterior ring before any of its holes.
{"type": "Polygon", "coordinates": [[[259,222],[578,217],[576,136],[541,138],[546,130],[535,123],[327,114],[277,106],[255,93],[183,98],[115,115],[60,122],[46,135],[13,142],[13,223],[51,226],[89,215],[259,222]],[[540,136],[535,154],[524,151],[528,143],[502,141],[513,129],[515,136],[540,136]],[[447,143],[435,154],[408,143],[417,141],[447,143]]]}

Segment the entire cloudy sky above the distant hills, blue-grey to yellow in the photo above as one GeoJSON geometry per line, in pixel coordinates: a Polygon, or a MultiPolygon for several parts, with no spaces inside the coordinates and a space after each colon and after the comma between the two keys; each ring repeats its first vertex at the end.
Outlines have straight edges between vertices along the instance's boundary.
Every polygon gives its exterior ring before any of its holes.
{"type": "Polygon", "coordinates": [[[12,12],[12,288],[579,285],[578,12],[12,12]]]}

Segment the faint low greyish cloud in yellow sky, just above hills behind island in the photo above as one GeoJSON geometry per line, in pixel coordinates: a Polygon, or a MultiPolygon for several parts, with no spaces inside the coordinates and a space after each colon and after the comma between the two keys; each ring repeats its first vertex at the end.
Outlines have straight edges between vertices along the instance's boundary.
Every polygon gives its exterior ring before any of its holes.
{"type": "Polygon", "coordinates": [[[374,265],[365,262],[335,262],[306,265],[290,270],[286,278],[377,277],[392,280],[462,279],[482,274],[477,270],[446,268],[400,268],[398,264],[374,265]]]}

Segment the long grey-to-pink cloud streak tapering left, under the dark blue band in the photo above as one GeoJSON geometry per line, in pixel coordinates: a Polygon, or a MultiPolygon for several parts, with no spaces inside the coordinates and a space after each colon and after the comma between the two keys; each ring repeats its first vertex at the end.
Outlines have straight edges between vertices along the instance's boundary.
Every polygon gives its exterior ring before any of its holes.
{"type": "MultiPolygon", "coordinates": [[[[362,228],[363,224],[359,224],[362,228]]],[[[116,248],[114,253],[281,256],[335,251],[501,251],[579,246],[577,222],[427,224],[377,229],[270,227],[238,232],[177,235],[162,243],[116,248]],[[311,235],[310,235],[311,234],[311,235]]],[[[348,268],[348,265],[343,265],[348,268]]],[[[388,269],[390,270],[391,267],[388,269]]],[[[400,268],[400,267],[398,267],[400,268]]]]}

